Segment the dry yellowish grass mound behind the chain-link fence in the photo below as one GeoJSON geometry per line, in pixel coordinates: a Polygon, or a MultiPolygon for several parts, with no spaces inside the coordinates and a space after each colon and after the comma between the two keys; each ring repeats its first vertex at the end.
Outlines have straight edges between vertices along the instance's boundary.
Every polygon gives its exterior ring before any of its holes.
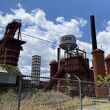
{"type": "MultiPolygon", "coordinates": [[[[78,97],[71,98],[61,92],[34,92],[22,95],[20,110],[74,110],[80,105],[78,97]]],[[[18,104],[17,95],[9,91],[0,96],[0,110],[16,110],[18,104]]],[[[94,102],[89,98],[83,99],[83,105],[91,105],[94,102]]]]}

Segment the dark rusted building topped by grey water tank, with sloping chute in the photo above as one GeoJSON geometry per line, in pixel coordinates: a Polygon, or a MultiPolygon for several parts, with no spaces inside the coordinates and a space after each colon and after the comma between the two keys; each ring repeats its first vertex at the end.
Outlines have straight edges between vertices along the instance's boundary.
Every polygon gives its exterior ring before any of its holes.
{"type": "Polygon", "coordinates": [[[49,84],[47,84],[46,90],[52,89],[52,86],[55,84],[58,89],[67,90],[68,88],[66,85],[68,86],[69,82],[65,83],[64,80],[58,80],[58,78],[73,79],[76,75],[81,80],[90,80],[90,69],[86,58],[86,52],[77,47],[74,35],[62,36],[60,39],[60,47],[57,52],[58,62],[52,61],[50,63],[50,76],[52,79],[49,81],[49,84]],[[64,50],[64,58],[60,58],[61,48],[64,50]],[[54,80],[55,83],[53,83],[54,80]]]}

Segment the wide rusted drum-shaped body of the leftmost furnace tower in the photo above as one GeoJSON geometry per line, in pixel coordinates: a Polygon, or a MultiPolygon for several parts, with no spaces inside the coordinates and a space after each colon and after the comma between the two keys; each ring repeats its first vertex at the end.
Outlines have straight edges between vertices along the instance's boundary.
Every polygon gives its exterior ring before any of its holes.
{"type": "Polygon", "coordinates": [[[5,45],[3,45],[3,43],[4,39],[0,41],[0,64],[17,66],[19,54],[22,50],[21,45],[26,42],[14,38],[9,38],[6,40],[5,45]]]}

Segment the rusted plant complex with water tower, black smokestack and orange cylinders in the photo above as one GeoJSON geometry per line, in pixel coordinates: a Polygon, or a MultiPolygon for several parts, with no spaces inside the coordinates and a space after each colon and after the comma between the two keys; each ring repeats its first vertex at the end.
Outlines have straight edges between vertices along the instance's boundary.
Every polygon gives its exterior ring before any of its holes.
{"type": "MultiPolygon", "coordinates": [[[[95,19],[94,16],[90,16],[91,24],[91,36],[92,36],[92,58],[93,68],[89,67],[89,59],[86,58],[86,52],[79,49],[76,44],[76,38],[74,35],[65,35],[60,39],[60,45],[58,48],[57,61],[50,62],[50,76],[51,80],[45,87],[45,90],[51,90],[54,85],[59,90],[67,90],[69,87],[70,92],[75,92],[73,86],[64,81],[55,80],[54,78],[73,79],[77,76],[80,80],[97,82],[98,76],[104,77],[106,74],[110,74],[110,55],[104,57],[104,51],[97,48],[96,31],[95,31],[95,19]],[[60,58],[60,51],[64,50],[63,61],[60,58]]],[[[94,94],[97,98],[107,96],[107,89],[102,89],[99,85],[94,85],[94,94]]],[[[78,90],[77,90],[78,91],[78,90]]],[[[87,94],[87,92],[86,92],[87,94]]]]}

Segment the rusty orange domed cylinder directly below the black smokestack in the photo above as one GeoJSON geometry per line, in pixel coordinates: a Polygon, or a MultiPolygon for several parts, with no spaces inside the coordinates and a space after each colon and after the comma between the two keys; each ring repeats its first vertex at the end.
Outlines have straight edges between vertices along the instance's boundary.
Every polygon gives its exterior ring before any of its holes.
{"type": "MultiPolygon", "coordinates": [[[[105,74],[105,63],[104,63],[104,51],[101,49],[95,49],[93,52],[93,71],[94,71],[94,81],[98,81],[98,75],[104,77],[105,74]]],[[[97,98],[103,97],[104,90],[95,84],[95,95],[97,98]]]]}

